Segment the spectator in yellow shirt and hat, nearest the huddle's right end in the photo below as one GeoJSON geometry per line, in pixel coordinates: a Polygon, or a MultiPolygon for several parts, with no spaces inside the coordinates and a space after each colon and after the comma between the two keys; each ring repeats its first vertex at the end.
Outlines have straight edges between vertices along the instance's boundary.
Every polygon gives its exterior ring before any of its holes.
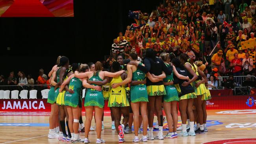
{"type": "Polygon", "coordinates": [[[219,71],[219,73],[223,73],[222,71],[222,67],[221,67],[221,63],[222,61],[224,61],[223,57],[223,51],[219,50],[216,54],[214,54],[211,57],[211,62],[213,63],[212,68],[217,68],[217,71],[219,71]]]}

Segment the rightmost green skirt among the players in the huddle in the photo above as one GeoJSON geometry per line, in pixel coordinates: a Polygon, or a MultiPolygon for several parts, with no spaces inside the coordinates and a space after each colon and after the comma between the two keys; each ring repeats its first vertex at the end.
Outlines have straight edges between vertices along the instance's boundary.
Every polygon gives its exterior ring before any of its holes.
{"type": "Polygon", "coordinates": [[[166,95],[163,95],[165,102],[179,101],[178,91],[172,85],[165,85],[166,95]]]}

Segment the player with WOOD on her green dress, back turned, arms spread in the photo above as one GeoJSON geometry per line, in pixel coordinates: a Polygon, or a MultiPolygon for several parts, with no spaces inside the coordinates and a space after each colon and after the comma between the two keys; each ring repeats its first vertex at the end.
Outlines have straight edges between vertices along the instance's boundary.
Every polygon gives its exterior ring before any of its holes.
{"type": "Polygon", "coordinates": [[[85,72],[79,74],[77,71],[75,72],[76,78],[83,78],[83,86],[88,90],[85,95],[85,111],[86,111],[86,120],[85,120],[85,139],[84,143],[89,143],[88,135],[89,135],[89,127],[91,127],[91,120],[93,118],[93,110],[95,111],[95,120],[96,120],[96,133],[97,139],[96,143],[105,142],[105,140],[101,139],[101,128],[102,128],[102,113],[104,107],[104,98],[102,94],[102,88],[95,84],[90,85],[87,83],[87,80],[84,78],[89,78],[91,81],[102,81],[104,77],[116,77],[120,76],[124,71],[119,71],[116,73],[111,73],[107,71],[102,71],[102,64],[98,61],[95,63],[95,70],[90,72],[85,72]]]}

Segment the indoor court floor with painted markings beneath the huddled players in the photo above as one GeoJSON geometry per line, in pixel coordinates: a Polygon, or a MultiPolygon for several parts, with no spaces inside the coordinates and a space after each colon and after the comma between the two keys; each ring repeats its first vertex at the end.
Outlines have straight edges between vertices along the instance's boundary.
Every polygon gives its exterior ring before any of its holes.
{"type": "MultiPolygon", "coordinates": [[[[207,126],[208,132],[197,134],[195,137],[178,137],[164,140],[148,140],[148,144],[256,144],[256,109],[250,110],[208,110],[207,126]],[[227,139],[237,139],[228,140],[227,139]],[[216,141],[223,140],[223,141],[216,141]]],[[[105,115],[109,115],[106,112],[105,115]]],[[[48,119],[50,113],[19,113],[0,112],[0,137],[1,144],[68,144],[58,139],[48,139],[48,119]]],[[[83,113],[83,121],[85,116],[83,113]]],[[[155,120],[156,121],[156,116],[155,120]]],[[[94,126],[94,122],[92,123],[94,126]]],[[[180,116],[178,126],[181,125],[180,116]]],[[[111,117],[104,117],[105,129],[102,138],[106,144],[117,144],[118,136],[115,130],[111,130],[111,117]]],[[[167,122],[164,123],[165,129],[167,122]]],[[[154,134],[157,131],[154,131],[154,134]]],[[[178,131],[179,133],[179,131],[178,131]]],[[[142,134],[139,134],[141,137],[142,134]]],[[[80,134],[84,138],[84,134],[80,134]]],[[[126,144],[131,144],[134,133],[126,134],[126,144]]],[[[96,141],[96,131],[89,133],[91,143],[96,141]]],[[[143,142],[139,142],[143,143],[143,142]]],[[[71,144],[71,143],[70,143],[71,144]]]]}

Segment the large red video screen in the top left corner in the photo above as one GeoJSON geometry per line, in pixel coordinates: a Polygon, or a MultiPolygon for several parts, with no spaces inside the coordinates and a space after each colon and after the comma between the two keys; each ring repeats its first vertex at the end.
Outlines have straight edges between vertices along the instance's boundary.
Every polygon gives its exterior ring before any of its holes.
{"type": "Polygon", "coordinates": [[[74,17],[73,0],[0,0],[0,17],[74,17]]]}

